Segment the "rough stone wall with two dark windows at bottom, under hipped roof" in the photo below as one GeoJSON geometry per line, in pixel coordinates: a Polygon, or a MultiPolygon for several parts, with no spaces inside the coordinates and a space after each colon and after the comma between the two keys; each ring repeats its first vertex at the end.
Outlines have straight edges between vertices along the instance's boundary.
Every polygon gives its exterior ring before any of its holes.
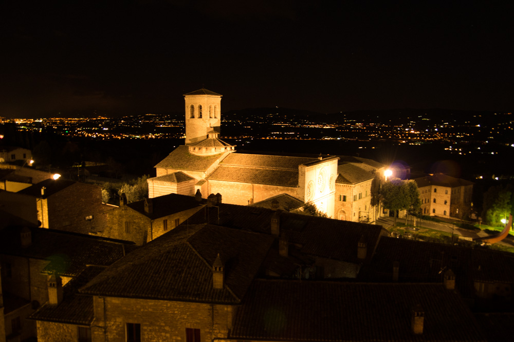
{"type": "Polygon", "coordinates": [[[199,342],[208,342],[226,338],[232,321],[230,305],[95,296],[94,307],[94,342],[126,341],[127,323],[140,325],[141,341],[183,342],[192,328],[200,330],[199,342]]]}

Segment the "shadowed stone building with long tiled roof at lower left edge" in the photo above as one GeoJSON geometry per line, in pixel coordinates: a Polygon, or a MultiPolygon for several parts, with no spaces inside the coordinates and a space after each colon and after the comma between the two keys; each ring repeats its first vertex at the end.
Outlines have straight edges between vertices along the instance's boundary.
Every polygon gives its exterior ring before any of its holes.
{"type": "Polygon", "coordinates": [[[36,324],[27,318],[48,304],[53,290],[59,287],[56,291],[61,291],[86,265],[110,265],[133,249],[132,244],[120,241],[52,229],[2,229],[0,266],[6,340],[35,337],[36,324]],[[53,273],[57,273],[59,281],[53,282],[52,290],[49,283],[53,273]]]}

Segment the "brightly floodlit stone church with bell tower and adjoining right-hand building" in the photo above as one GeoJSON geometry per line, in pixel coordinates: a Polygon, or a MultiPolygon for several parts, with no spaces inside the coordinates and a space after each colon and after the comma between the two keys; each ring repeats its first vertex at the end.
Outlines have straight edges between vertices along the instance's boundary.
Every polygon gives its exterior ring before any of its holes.
{"type": "Polygon", "coordinates": [[[186,142],[177,147],[148,179],[149,197],[170,193],[221,194],[223,202],[256,204],[289,195],[316,206],[329,218],[374,222],[372,181],[385,166],[346,156],[282,156],[238,153],[219,139],[222,95],[201,88],[184,95],[186,142]],[[342,173],[341,173],[342,172],[342,173]]]}

